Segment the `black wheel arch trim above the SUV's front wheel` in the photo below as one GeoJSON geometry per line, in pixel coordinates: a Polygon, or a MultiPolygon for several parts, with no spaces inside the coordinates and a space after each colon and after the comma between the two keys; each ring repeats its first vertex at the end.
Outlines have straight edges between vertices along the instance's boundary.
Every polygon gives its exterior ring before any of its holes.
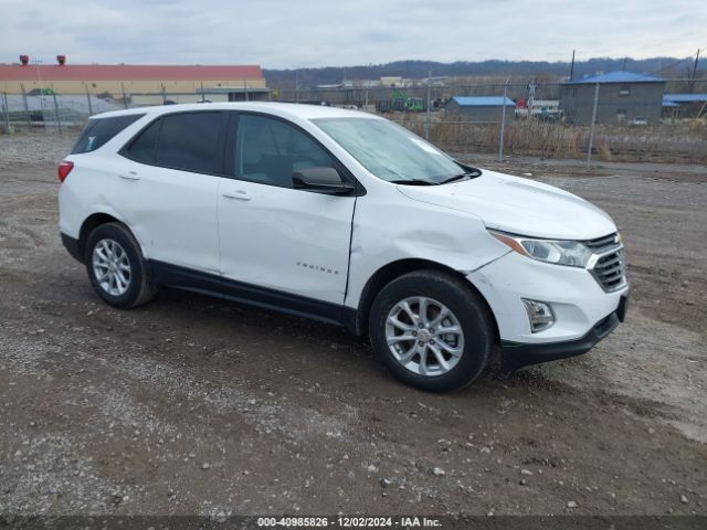
{"type": "Polygon", "coordinates": [[[455,271],[454,268],[437,262],[421,258],[398,259],[382,266],[381,268],[376,271],[376,273],[373,273],[373,275],[363,286],[363,290],[361,292],[361,296],[359,298],[354,329],[356,335],[365,336],[368,333],[368,317],[378,293],[380,293],[380,290],[393,279],[415,271],[437,271],[450,276],[463,279],[467,288],[473,292],[479,300],[483,300],[484,305],[486,306],[494,327],[494,342],[499,343],[500,336],[498,332],[498,322],[496,321],[496,316],[494,315],[494,311],[484,295],[471,282],[466,279],[464,274],[460,273],[458,271],[455,271]]]}

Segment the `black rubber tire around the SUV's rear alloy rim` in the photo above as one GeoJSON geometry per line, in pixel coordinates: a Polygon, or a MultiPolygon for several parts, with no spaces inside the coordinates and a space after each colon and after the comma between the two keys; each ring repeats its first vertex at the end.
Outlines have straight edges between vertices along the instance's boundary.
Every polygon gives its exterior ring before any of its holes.
{"type": "Polygon", "coordinates": [[[84,263],[88,279],[93,285],[96,294],[109,305],[120,309],[131,309],[148,303],[157,289],[150,278],[150,271],[140,252],[140,245],[135,236],[122,223],[106,223],[97,226],[88,237],[85,244],[84,263]],[[116,242],[127,255],[129,265],[129,283],[127,289],[123,294],[110,294],[106,288],[102,287],[101,282],[94,268],[94,250],[103,241],[116,242]]]}

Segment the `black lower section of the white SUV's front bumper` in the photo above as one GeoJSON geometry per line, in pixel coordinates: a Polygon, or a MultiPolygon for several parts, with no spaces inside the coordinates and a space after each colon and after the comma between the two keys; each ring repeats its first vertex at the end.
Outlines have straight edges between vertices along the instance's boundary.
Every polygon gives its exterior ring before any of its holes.
{"type": "Polygon", "coordinates": [[[568,357],[581,356],[591,350],[597,342],[611,333],[619,322],[623,322],[629,307],[629,294],[622,295],[614,312],[594,325],[583,337],[574,340],[545,343],[521,343],[502,341],[503,369],[518,370],[530,364],[556,361],[568,357]]]}

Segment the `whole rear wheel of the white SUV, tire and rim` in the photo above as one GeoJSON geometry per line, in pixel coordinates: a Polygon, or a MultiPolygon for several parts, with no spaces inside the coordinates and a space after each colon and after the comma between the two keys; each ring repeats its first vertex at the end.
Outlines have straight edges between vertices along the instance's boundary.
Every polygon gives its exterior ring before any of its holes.
{"type": "Polygon", "coordinates": [[[129,309],[149,301],[155,286],[140,246],[120,223],[97,226],[86,240],[86,272],[96,294],[112,306],[129,309]]]}

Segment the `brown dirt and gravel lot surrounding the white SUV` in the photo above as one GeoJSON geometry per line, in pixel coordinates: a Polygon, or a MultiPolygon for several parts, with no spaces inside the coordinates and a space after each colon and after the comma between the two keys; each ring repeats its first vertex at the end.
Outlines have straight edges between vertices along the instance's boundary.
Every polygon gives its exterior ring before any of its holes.
{"type": "Polygon", "coordinates": [[[467,157],[611,213],[632,307],[587,356],[433,395],[335,327],[102,304],[56,230],[71,142],[0,140],[0,513],[707,512],[705,168],[467,157]]]}

